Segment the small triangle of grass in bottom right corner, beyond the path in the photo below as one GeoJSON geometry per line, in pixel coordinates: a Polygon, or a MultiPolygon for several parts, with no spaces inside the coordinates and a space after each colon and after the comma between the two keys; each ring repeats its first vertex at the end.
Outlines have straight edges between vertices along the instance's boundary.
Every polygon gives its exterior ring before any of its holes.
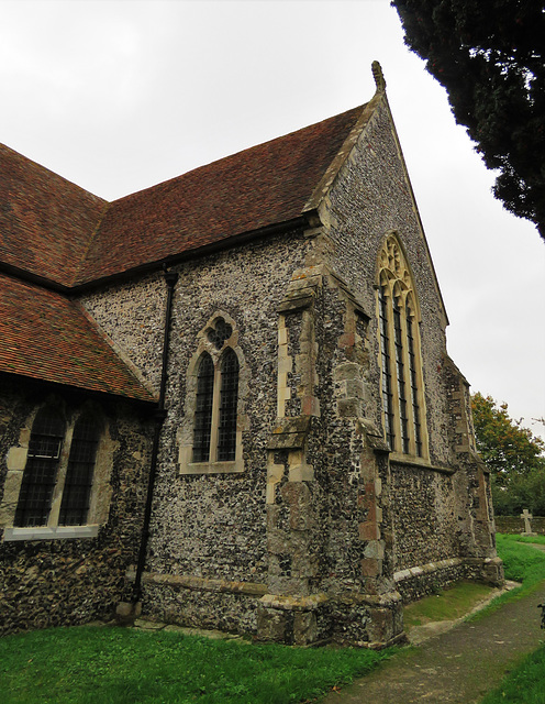
{"type": "Polygon", "coordinates": [[[543,704],[544,692],[545,645],[525,658],[481,704],[543,704]]]}

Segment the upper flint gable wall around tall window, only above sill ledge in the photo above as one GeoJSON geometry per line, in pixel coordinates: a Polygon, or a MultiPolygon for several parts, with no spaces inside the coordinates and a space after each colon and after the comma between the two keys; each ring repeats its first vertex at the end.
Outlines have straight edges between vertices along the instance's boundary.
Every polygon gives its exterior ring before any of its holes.
{"type": "Polygon", "coordinates": [[[426,243],[414,212],[411,191],[392,133],[387,106],[380,103],[344,163],[321,209],[331,239],[331,265],[354,289],[370,316],[369,397],[366,417],[381,427],[379,336],[376,284],[378,256],[388,233],[396,231],[404,248],[418,295],[422,341],[430,459],[448,465],[445,396],[441,367],[446,354],[441,297],[426,243]]]}

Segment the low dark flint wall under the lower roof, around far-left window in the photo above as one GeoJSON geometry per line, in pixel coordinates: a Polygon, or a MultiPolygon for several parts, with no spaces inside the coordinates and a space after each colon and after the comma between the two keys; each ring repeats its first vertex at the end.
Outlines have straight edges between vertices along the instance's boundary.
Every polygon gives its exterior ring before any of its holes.
{"type": "MultiPolygon", "coordinates": [[[[0,398],[0,501],[5,502],[7,457],[21,429],[47,399],[77,413],[85,394],[55,393],[27,382],[2,380],[0,398]]],[[[130,596],[125,572],[136,562],[151,446],[143,411],[123,402],[94,399],[103,410],[113,448],[109,480],[112,499],[98,537],[3,541],[0,526],[0,632],[108,619],[130,596]]],[[[16,496],[12,497],[16,501],[16,496]]],[[[108,507],[107,507],[108,508],[108,507]]],[[[2,514],[5,521],[7,514],[2,514]]]]}

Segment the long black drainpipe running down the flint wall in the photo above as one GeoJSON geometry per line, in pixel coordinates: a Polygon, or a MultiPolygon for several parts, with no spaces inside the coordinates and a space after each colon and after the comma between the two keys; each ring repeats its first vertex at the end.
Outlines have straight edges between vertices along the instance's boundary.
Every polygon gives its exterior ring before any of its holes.
{"type": "Polygon", "coordinates": [[[168,348],[170,344],[170,319],[173,316],[173,296],[176,282],[178,280],[177,272],[167,272],[166,264],[163,265],[165,272],[165,283],[168,287],[167,290],[167,309],[165,314],[165,330],[163,336],[163,361],[160,373],[160,387],[159,387],[159,400],[157,408],[155,409],[155,430],[152,446],[152,460],[149,463],[149,477],[147,481],[147,495],[146,507],[144,510],[144,524],[142,527],[142,540],[140,543],[138,562],[136,565],[136,575],[134,578],[133,585],[133,604],[136,604],[142,598],[142,575],[144,573],[144,565],[147,554],[147,542],[149,540],[149,522],[152,519],[152,504],[155,487],[155,476],[157,474],[157,457],[159,453],[159,439],[160,431],[163,429],[163,421],[166,418],[167,411],[165,409],[165,391],[167,385],[167,364],[168,364],[168,348]]]}

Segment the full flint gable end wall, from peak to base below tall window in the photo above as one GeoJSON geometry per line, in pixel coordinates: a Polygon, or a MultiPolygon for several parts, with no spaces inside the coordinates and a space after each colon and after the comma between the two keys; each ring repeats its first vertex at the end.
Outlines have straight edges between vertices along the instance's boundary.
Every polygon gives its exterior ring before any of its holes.
{"type": "Polygon", "coordinates": [[[379,253],[392,232],[403,248],[418,297],[429,461],[403,462],[400,455],[391,457],[391,474],[385,476],[382,488],[389,497],[383,508],[391,509],[393,532],[389,546],[388,520],[379,528],[387,537],[385,554],[393,556],[396,571],[434,560],[492,560],[492,513],[486,476],[475,455],[467,382],[446,352],[446,314],[386,98],[377,101],[319,212],[324,224],[324,258],[348,283],[369,316],[363,416],[379,433],[376,286],[379,253]]]}

